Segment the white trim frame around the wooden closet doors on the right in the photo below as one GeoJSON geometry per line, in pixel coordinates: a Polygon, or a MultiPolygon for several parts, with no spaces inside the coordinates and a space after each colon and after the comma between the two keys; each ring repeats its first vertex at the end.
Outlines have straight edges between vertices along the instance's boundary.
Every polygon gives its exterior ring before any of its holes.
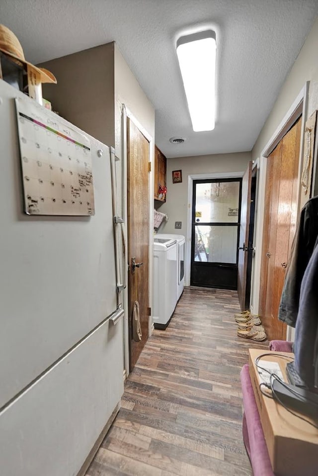
{"type": "MultiPolygon", "coordinates": [[[[256,198],[256,226],[254,231],[254,248],[255,256],[253,260],[252,267],[252,282],[253,282],[253,291],[251,295],[251,312],[254,314],[258,313],[259,310],[259,291],[260,291],[260,269],[261,269],[261,250],[262,250],[262,240],[263,240],[263,221],[264,221],[264,202],[265,202],[265,186],[266,186],[266,165],[267,157],[275,149],[277,144],[281,141],[284,135],[288,132],[294,122],[302,115],[302,133],[301,133],[301,144],[299,152],[299,169],[298,177],[301,177],[301,171],[303,168],[303,151],[304,151],[304,131],[305,123],[307,118],[307,102],[308,102],[308,91],[309,91],[309,81],[301,89],[300,93],[297,95],[293,104],[289,108],[288,112],[285,114],[284,118],[276,128],[274,134],[269,139],[265,147],[261,152],[260,158],[258,158],[255,163],[258,168],[258,190],[256,198]]],[[[299,187],[297,190],[297,216],[300,211],[300,193],[301,184],[299,180],[299,187]]],[[[287,329],[287,340],[290,340],[292,337],[291,328],[287,329]]]]}

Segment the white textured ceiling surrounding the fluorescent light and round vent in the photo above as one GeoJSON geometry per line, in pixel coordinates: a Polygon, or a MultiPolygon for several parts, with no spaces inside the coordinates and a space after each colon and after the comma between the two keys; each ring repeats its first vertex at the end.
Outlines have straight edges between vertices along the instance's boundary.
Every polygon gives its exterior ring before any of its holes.
{"type": "Polygon", "coordinates": [[[251,150],[317,14],[318,0],[0,0],[0,23],[33,63],[115,40],[167,157],[251,150]],[[216,126],[193,132],[175,40],[205,25],[217,34],[216,126]]]}

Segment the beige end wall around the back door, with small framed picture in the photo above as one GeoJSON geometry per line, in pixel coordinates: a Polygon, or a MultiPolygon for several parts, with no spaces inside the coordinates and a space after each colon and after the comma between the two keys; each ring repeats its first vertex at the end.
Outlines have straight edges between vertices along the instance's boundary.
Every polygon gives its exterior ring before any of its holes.
{"type": "Polygon", "coordinates": [[[188,176],[194,174],[216,174],[245,172],[251,160],[250,152],[236,154],[204,155],[167,159],[167,198],[158,211],[168,215],[168,221],[159,233],[187,235],[188,176]],[[182,170],[182,183],[172,184],[172,170],[182,170]],[[181,230],[175,230],[174,222],[182,221],[181,230]]]}

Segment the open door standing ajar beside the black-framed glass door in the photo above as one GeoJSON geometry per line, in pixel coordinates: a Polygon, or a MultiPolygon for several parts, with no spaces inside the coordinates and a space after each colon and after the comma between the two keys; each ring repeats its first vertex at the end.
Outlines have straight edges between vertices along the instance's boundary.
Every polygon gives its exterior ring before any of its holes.
{"type": "Polygon", "coordinates": [[[250,216],[250,193],[252,182],[252,161],[249,162],[247,170],[242,179],[242,194],[240,208],[239,227],[239,262],[238,262],[238,294],[241,310],[245,310],[246,305],[246,271],[249,250],[249,216],[250,216]]]}

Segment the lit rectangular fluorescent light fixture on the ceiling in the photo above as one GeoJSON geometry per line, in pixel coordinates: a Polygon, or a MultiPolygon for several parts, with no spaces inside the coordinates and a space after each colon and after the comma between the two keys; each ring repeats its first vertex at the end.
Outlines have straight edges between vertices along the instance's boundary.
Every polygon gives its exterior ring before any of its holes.
{"type": "Polygon", "coordinates": [[[210,131],[215,125],[215,32],[202,31],[177,41],[177,56],[192,127],[210,131]]]}

